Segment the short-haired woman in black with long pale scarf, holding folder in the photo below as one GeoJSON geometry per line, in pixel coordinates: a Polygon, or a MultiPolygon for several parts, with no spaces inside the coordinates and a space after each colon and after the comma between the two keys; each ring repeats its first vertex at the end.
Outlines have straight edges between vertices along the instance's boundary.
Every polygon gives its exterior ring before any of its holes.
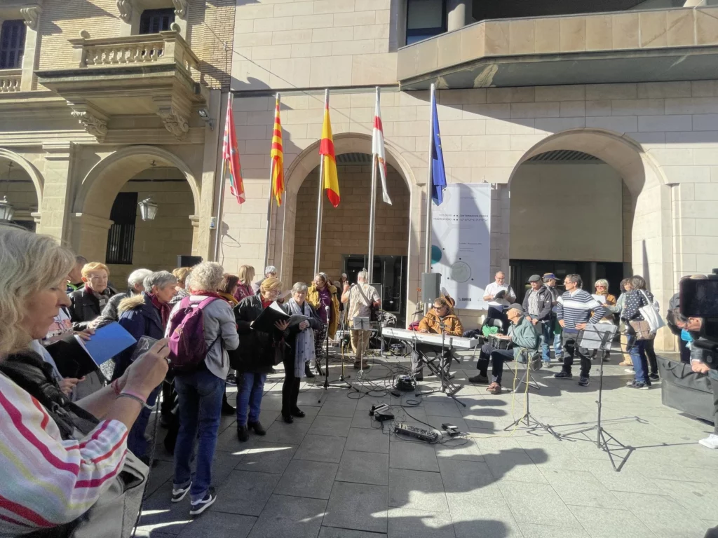
{"type": "Polygon", "coordinates": [[[281,387],[281,417],[285,423],[294,422],[292,417],[304,417],[304,411],[297,407],[299,384],[305,365],[314,358],[314,331],[322,326],[316,318],[317,313],[306,299],[307,284],[297,282],[292,287],[292,298],[284,306],[290,315],[299,314],[309,318],[290,327],[286,339],[289,349],[284,354],[284,384],[281,387]]]}

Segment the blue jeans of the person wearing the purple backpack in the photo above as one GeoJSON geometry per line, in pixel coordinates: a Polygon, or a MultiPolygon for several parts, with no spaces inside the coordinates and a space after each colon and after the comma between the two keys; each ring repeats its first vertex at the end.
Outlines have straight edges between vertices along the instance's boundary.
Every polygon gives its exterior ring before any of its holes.
{"type": "Polygon", "coordinates": [[[174,445],[174,487],[192,482],[192,501],[204,498],[212,483],[212,460],[215,457],[220,427],[225,380],[207,369],[174,377],[180,405],[177,418],[180,431],[174,445]],[[190,463],[197,438],[197,471],[192,478],[190,463]]]}

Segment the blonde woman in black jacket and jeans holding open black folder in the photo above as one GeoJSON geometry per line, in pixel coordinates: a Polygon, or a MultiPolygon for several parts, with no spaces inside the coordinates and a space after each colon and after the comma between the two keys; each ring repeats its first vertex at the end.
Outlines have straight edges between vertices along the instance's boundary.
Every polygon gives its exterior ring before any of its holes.
{"type": "Polygon", "coordinates": [[[237,438],[249,439],[249,430],[266,435],[259,423],[259,410],[264,382],[272,367],[284,360],[284,337],[288,336],[286,321],[277,321],[274,330],[266,333],[252,328],[259,317],[281,296],[281,282],[277,278],[262,280],[257,295],[244,298],[235,308],[237,332],[242,345],[230,352],[230,365],[237,370],[237,438]],[[249,412],[247,412],[249,410],[249,412]]]}

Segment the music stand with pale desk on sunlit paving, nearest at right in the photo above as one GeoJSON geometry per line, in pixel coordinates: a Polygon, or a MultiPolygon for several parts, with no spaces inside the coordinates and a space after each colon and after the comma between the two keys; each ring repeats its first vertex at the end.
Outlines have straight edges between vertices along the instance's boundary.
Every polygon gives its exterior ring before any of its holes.
{"type": "Polygon", "coordinates": [[[560,435],[561,437],[569,438],[569,435],[577,435],[578,433],[585,434],[589,431],[596,430],[596,447],[599,450],[606,451],[606,453],[608,454],[608,458],[611,461],[611,465],[613,466],[613,470],[616,472],[620,471],[621,468],[623,468],[623,464],[628,459],[628,456],[630,456],[630,453],[633,452],[633,447],[626,446],[621,443],[613,435],[608,433],[601,425],[601,407],[603,395],[603,359],[606,356],[606,351],[611,350],[611,343],[617,329],[617,326],[615,326],[614,324],[587,324],[586,329],[584,329],[582,334],[580,335],[580,341],[577,341],[578,347],[602,352],[599,367],[598,400],[596,400],[596,404],[598,406],[598,420],[595,426],[590,426],[589,428],[582,428],[581,430],[563,433],[560,435]],[[611,447],[609,441],[613,441],[613,443],[615,443],[613,447],[611,447]],[[618,466],[616,466],[616,463],[613,460],[613,453],[611,452],[611,450],[628,450],[628,453],[626,453],[626,455],[621,458],[621,463],[618,466]]]}

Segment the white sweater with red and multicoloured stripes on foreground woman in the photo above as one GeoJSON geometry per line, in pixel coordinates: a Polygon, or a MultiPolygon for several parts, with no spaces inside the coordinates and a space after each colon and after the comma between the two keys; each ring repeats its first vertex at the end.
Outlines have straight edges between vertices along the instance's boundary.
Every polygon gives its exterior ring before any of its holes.
{"type": "Polygon", "coordinates": [[[121,470],[127,428],[103,420],[83,440],[62,440],[45,408],[0,374],[0,537],[71,522],[121,470]]]}

